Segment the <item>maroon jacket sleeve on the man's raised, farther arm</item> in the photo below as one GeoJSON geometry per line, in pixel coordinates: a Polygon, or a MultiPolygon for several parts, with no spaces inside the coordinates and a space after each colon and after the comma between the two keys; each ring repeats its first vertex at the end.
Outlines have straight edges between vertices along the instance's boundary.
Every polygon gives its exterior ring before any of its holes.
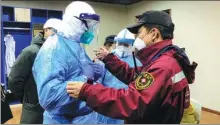
{"type": "MultiPolygon", "coordinates": [[[[135,68],[131,68],[117,56],[109,54],[102,61],[105,63],[105,68],[123,83],[128,85],[134,80],[136,75],[135,68]]],[[[138,70],[141,71],[142,67],[138,67],[138,70]]]]}

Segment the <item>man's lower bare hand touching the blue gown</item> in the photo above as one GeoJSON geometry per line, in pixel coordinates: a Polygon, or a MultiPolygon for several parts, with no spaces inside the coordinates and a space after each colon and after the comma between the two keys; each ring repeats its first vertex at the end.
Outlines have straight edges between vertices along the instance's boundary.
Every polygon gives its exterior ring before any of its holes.
{"type": "Polygon", "coordinates": [[[78,98],[83,84],[84,82],[68,82],[66,86],[67,93],[73,98],[78,98]]]}

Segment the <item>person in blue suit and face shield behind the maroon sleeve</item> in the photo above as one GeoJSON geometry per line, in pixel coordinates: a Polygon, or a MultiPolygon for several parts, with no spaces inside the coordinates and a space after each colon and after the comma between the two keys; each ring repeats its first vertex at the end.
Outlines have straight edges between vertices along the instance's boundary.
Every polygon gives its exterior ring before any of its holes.
{"type": "MultiPolygon", "coordinates": [[[[122,30],[114,38],[116,41],[116,48],[112,51],[119,59],[129,64],[130,67],[134,67],[134,58],[132,56],[132,44],[135,40],[134,34],[127,29],[122,30]]],[[[141,62],[135,58],[137,66],[142,66],[141,62]]],[[[104,63],[102,63],[104,65],[104,63]]],[[[102,77],[98,80],[98,83],[102,83],[106,87],[122,89],[128,88],[128,85],[118,80],[107,69],[104,69],[102,77]]],[[[100,124],[123,124],[124,120],[113,119],[101,114],[97,116],[98,123],[100,124]]]]}

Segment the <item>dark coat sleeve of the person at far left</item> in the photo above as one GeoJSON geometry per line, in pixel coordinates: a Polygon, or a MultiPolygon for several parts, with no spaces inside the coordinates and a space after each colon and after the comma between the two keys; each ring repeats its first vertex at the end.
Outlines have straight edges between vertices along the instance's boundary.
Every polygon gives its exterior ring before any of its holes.
{"type": "Polygon", "coordinates": [[[19,98],[23,97],[27,77],[31,75],[31,68],[36,54],[23,50],[16,59],[8,78],[9,89],[19,98]]]}

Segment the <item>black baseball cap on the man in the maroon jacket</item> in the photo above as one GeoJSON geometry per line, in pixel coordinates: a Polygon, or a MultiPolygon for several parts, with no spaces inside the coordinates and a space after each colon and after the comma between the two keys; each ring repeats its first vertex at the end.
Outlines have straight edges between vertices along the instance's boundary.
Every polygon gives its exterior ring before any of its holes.
{"type": "Polygon", "coordinates": [[[161,25],[170,30],[174,30],[174,24],[172,22],[172,19],[170,15],[166,12],[151,10],[151,11],[147,11],[143,13],[142,15],[138,15],[138,17],[139,17],[139,20],[137,24],[127,27],[127,29],[131,33],[137,34],[138,30],[144,24],[161,25]]]}

